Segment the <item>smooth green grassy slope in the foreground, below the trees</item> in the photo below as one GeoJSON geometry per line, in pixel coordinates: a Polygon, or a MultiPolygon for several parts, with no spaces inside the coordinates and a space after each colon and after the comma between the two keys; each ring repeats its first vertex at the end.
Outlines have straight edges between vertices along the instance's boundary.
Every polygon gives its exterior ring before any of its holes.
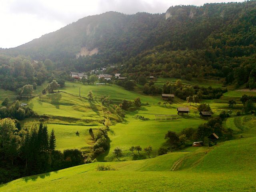
{"type": "MultiPolygon", "coordinates": [[[[255,138],[245,138],[225,142],[210,151],[206,147],[190,152],[169,153],[147,160],[86,164],[21,178],[1,186],[0,190],[6,192],[14,190],[20,192],[34,190],[254,191],[256,189],[255,146],[255,138]],[[184,160],[184,157],[195,157],[194,154],[198,152],[204,155],[200,159],[190,158],[194,168],[171,171],[177,162],[184,160]],[[224,158],[226,154],[228,158],[224,158]],[[99,164],[110,165],[116,170],[96,171],[99,164]]],[[[185,162],[188,163],[188,161],[181,163],[185,162]]]]}

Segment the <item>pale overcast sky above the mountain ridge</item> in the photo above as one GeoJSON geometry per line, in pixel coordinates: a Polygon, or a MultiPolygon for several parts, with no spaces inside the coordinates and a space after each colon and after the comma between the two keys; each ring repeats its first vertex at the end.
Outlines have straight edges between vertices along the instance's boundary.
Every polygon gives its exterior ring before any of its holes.
{"type": "Polygon", "coordinates": [[[230,0],[0,0],[0,48],[19,46],[85,16],[107,11],[164,13],[174,5],[210,2],[230,0]]]}

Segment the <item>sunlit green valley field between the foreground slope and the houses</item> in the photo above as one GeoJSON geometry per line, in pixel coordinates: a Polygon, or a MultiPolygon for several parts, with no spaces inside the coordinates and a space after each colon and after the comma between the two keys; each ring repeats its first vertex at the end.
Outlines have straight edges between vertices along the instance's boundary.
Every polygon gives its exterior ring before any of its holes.
{"type": "MultiPolygon", "coordinates": [[[[64,150],[67,148],[83,148],[90,146],[92,143],[88,134],[90,127],[96,129],[103,126],[99,122],[103,120],[103,111],[98,99],[90,103],[86,98],[80,98],[79,87],[81,95],[86,96],[89,90],[92,90],[94,97],[99,98],[102,95],[110,95],[111,100],[122,101],[123,99],[133,100],[140,96],[142,102],[148,103],[143,105],[140,110],[129,112],[123,123],[116,123],[110,126],[109,137],[111,140],[110,150],[103,156],[99,156],[99,161],[113,161],[115,160],[112,152],[114,148],[120,147],[124,150],[123,160],[132,160],[134,157],[128,151],[133,145],[141,145],[143,148],[151,145],[154,149],[153,153],[164,143],[164,135],[168,130],[180,132],[187,127],[196,128],[204,120],[195,117],[193,110],[196,106],[191,106],[191,116],[173,118],[172,120],[155,120],[155,115],[159,114],[177,114],[177,107],[189,106],[184,101],[176,98],[174,104],[158,105],[157,103],[163,101],[158,96],[145,96],[140,92],[130,92],[124,90],[120,86],[96,86],[96,85],[83,85],[80,83],[66,82],[66,88],[63,91],[55,94],[48,94],[32,99],[28,105],[35,110],[38,114],[48,114],[57,116],[57,119],[50,118],[45,123],[48,124],[50,129],[54,128],[56,131],[57,149],[64,150]],[[78,91],[78,92],[77,92],[78,91]],[[109,93],[109,94],[106,94],[109,93]],[[144,116],[150,120],[142,121],[136,119],[136,115],[144,116]],[[77,120],[91,120],[92,122],[64,122],[60,117],[76,118],[77,120]],[[93,126],[91,126],[93,125],[93,126]],[[77,137],[75,132],[81,131],[81,136],[77,137]]],[[[33,121],[24,121],[24,126],[31,126],[33,121]]],[[[142,152],[143,153],[143,152],[142,152]]],[[[146,158],[146,157],[143,157],[146,158]]]]}

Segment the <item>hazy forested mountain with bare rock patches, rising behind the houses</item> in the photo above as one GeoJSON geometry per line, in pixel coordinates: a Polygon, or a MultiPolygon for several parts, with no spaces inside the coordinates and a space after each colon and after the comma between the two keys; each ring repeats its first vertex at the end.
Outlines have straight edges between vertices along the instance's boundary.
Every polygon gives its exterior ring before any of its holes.
{"type": "Polygon", "coordinates": [[[255,18],[255,1],[174,6],[165,14],[106,12],[0,53],[49,58],[66,71],[124,64],[122,72],[136,72],[134,78],[148,75],[146,69],[156,76],[225,77],[224,83],[255,88],[255,18]]]}

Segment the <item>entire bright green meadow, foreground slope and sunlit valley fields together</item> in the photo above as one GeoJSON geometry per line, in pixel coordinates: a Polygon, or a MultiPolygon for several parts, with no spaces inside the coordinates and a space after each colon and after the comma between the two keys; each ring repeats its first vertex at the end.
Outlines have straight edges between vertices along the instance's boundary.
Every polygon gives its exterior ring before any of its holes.
{"type": "MultiPolygon", "coordinates": [[[[171,79],[157,79],[156,84],[171,79]]],[[[175,79],[174,79],[175,80],[175,79]]],[[[173,80],[173,81],[174,81],[173,80]]],[[[199,84],[199,82],[185,82],[199,84]]],[[[200,86],[210,86],[212,82],[204,82],[200,86]]],[[[212,84],[219,87],[220,84],[212,84]]],[[[254,115],[236,116],[235,112],[242,107],[241,102],[232,109],[234,113],[227,118],[223,126],[234,130],[234,140],[219,142],[209,148],[188,147],[177,152],[158,156],[157,150],[164,145],[164,136],[168,130],[180,132],[184,128],[197,128],[207,122],[196,113],[197,106],[191,106],[178,98],[166,106],[160,95],[148,96],[142,94],[141,86],[134,91],[124,88],[98,85],[83,85],[78,82],[66,82],[66,86],[54,94],[46,94],[28,100],[28,105],[38,114],[45,114],[44,124],[48,130],[54,129],[56,149],[68,148],[85,149],[92,147],[94,142],[89,129],[96,131],[103,127],[106,110],[111,112],[112,124],[108,131],[110,149],[98,156],[94,163],[84,164],[56,172],[29,176],[14,180],[0,186],[0,191],[255,191],[256,190],[256,118],[254,115]],[[79,88],[80,95],[79,96],[79,88]],[[94,101],[86,98],[92,90],[94,101]],[[100,96],[110,96],[112,104],[102,106],[100,96]],[[120,122],[115,114],[113,105],[122,100],[134,100],[140,97],[140,110],[129,111],[120,122]],[[161,102],[158,105],[158,102],[161,102]],[[177,107],[188,106],[189,116],[176,116],[177,107]],[[149,120],[140,120],[137,115],[149,120]],[[155,115],[174,115],[172,120],[162,120],[155,115]],[[79,132],[77,135],[76,132],[79,132]],[[241,137],[242,135],[242,137],[241,137]],[[146,152],[129,151],[131,146],[140,145],[142,148],[152,146],[150,158],[146,152]],[[122,157],[117,160],[113,154],[114,148],[122,149],[122,157]],[[98,165],[110,165],[115,170],[98,171],[98,165]]],[[[244,92],[243,92],[244,93],[244,92]]],[[[247,93],[244,93],[247,94],[247,93]]],[[[227,98],[238,98],[240,92],[228,91],[219,100],[202,100],[210,104],[214,115],[222,110],[228,110],[227,98]]],[[[23,127],[39,123],[39,119],[23,120],[23,127]]]]}

